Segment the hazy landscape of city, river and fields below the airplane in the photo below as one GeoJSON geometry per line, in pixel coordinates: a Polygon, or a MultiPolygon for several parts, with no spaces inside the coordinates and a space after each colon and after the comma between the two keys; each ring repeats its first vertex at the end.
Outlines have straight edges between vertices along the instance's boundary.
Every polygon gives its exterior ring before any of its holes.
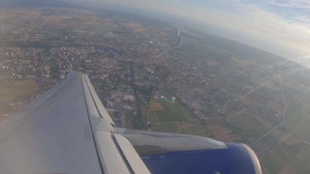
{"type": "Polygon", "coordinates": [[[310,171],[306,67],[137,15],[0,10],[0,120],[70,71],[88,75],[118,127],[242,142],[257,154],[263,173],[310,171]]]}

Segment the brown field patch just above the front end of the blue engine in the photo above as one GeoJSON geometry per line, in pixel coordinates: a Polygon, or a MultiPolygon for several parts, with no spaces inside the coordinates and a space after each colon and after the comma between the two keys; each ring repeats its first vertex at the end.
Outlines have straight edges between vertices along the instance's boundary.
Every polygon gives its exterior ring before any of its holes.
{"type": "Polygon", "coordinates": [[[235,134],[234,131],[231,129],[222,128],[214,125],[208,125],[206,127],[215,136],[215,139],[217,140],[236,141],[238,139],[241,139],[240,136],[235,134]]]}

